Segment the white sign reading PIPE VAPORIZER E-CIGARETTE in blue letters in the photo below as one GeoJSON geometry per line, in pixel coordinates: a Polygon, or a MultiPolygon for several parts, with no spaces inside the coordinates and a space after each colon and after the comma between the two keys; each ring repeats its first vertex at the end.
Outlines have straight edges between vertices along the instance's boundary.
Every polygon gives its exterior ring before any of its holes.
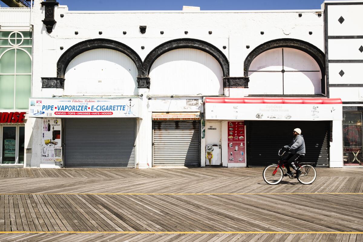
{"type": "Polygon", "coordinates": [[[35,118],[136,118],[140,99],[29,98],[29,116],[35,118]]]}

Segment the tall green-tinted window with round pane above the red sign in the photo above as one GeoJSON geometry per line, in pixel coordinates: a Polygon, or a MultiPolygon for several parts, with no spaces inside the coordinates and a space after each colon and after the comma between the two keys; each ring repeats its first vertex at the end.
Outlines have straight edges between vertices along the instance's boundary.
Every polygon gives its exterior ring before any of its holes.
{"type": "Polygon", "coordinates": [[[0,32],[0,109],[28,109],[31,38],[31,32],[0,32]]]}

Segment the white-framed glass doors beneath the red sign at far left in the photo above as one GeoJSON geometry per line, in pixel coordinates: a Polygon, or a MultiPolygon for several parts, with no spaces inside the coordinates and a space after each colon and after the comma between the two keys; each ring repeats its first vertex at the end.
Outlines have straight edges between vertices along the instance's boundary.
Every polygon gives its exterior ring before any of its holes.
{"type": "Polygon", "coordinates": [[[0,126],[1,164],[24,163],[25,127],[19,125],[0,126]]]}

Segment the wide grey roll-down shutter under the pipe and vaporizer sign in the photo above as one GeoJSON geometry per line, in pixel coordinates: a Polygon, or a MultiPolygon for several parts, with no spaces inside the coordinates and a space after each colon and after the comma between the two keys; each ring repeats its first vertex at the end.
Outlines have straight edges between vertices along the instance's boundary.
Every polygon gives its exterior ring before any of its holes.
{"type": "Polygon", "coordinates": [[[65,120],[65,167],[135,167],[132,118],[65,120]]]}

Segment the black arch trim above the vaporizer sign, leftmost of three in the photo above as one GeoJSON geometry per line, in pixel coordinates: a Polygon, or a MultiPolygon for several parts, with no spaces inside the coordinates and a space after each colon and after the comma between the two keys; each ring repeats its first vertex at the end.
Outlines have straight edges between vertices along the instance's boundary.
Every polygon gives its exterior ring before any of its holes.
{"type": "Polygon", "coordinates": [[[86,52],[87,50],[100,49],[100,48],[117,50],[119,52],[126,54],[126,56],[130,57],[131,60],[135,63],[138,69],[138,74],[139,75],[142,74],[142,60],[140,56],[133,49],[115,40],[97,38],[97,39],[91,39],[79,42],[71,46],[69,49],[67,49],[58,59],[57,77],[64,78],[67,66],[76,56],[82,54],[83,52],[86,52]]]}

